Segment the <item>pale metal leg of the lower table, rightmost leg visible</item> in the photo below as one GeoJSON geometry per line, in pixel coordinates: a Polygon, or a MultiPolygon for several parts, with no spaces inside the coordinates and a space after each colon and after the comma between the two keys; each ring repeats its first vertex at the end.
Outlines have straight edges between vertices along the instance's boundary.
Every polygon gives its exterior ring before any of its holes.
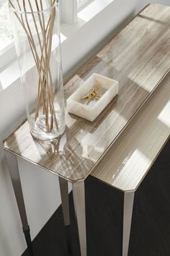
{"type": "Polygon", "coordinates": [[[125,192],[124,194],[122,256],[128,256],[134,195],[135,192],[125,192]]]}

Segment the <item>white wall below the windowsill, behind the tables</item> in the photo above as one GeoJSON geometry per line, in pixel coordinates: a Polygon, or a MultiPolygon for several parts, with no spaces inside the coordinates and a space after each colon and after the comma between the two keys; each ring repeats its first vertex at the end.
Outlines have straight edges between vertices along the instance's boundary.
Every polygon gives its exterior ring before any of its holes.
{"type": "MultiPolygon", "coordinates": [[[[168,0],[158,2],[169,4],[168,0]]],[[[65,78],[102,46],[103,38],[108,40],[111,34],[113,35],[112,30],[116,30],[123,20],[132,17],[146,4],[148,4],[146,0],[115,0],[104,10],[104,13],[98,14],[91,23],[87,23],[75,35],[68,38],[62,46],[65,78]]],[[[23,116],[22,90],[17,81],[11,88],[6,88],[0,93],[1,140],[16,127],[23,116]]],[[[27,216],[34,238],[61,203],[58,178],[23,160],[19,160],[19,169],[27,216]]],[[[0,256],[19,256],[26,245],[4,160],[2,142],[0,142],[0,205],[0,256]]]]}

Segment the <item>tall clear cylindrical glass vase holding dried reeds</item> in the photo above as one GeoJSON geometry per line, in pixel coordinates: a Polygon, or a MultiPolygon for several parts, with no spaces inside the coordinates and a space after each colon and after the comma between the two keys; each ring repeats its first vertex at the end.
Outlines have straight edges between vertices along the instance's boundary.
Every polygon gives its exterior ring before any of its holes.
{"type": "Polygon", "coordinates": [[[9,0],[30,132],[52,140],[65,129],[60,18],[55,0],[9,0]]]}

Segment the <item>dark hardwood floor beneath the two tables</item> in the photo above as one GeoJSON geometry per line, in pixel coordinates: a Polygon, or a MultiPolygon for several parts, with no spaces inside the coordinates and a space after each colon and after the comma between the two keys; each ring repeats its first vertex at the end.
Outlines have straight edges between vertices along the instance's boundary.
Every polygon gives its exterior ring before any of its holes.
{"type": "MultiPolygon", "coordinates": [[[[71,211],[72,255],[80,256],[73,197],[71,211]]],[[[121,256],[123,194],[94,177],[86,179],[88,256],[121,256]]],[[[35,256],[68,255],[61,207],[35,237],[35,256]]],[[[22,256],[27,256],[25,251],[22,256]]],[[[170,255],[170,140],[135,193],[128,256],[170,255]]]]}

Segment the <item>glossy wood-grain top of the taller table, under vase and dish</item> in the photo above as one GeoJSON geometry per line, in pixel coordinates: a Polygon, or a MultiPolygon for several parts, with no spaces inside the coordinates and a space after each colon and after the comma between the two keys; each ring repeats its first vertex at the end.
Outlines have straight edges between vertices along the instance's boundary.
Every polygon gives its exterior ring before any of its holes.
{"type": "Polygon", "coordinates": [[[68,98],[94,72],[120,82],[119,95],[95,121],[66,109],[66,133],[53,141],[34,139],[25,121],[4,149],[68,181],[86,179],[169,72],[169,24],[170,7],[149,5],[66,83],[68,98]]]}

